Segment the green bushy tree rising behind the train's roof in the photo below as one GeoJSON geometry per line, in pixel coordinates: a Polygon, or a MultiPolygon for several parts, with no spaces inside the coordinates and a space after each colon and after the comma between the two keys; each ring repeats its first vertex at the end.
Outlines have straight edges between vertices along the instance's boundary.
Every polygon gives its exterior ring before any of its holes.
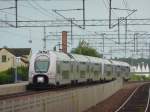
{"type": "Polygon", "coordinates": [[[73,49],[71,53],[76,53],[76,54],[82,54],[82,55],[87,55],[87,56],[94,56],[94,57],[102,57],[102,54],[99,54],[96,49],[92,48],[89,46],[89,43],[86,41],[82,40],[79,42],[79,45],[77,48],[73,49]]]}

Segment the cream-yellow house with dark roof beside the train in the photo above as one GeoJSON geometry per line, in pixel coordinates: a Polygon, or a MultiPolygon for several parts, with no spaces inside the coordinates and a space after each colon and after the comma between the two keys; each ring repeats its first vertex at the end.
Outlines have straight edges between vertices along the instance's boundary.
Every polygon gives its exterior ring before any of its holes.
{"type": "Polygon", "coordinates": [[[0,71],[28,66],[31,54],[31,48],[0,48],[0,71]]]}

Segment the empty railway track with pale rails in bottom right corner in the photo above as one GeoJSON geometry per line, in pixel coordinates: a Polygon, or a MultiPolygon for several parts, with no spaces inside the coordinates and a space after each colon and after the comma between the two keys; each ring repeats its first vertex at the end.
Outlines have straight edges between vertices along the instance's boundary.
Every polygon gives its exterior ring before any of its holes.
{"type": "Polygon", "coordinates": [[[115,112],[150,112],[150,83],[137,87],[115,112]]]}

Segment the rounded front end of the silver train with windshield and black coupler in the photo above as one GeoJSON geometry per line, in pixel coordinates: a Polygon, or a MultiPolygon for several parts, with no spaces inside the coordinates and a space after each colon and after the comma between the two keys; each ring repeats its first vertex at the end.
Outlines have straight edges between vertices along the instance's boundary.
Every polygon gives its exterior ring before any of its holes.
{"type": "Polygon", "coordinates": [[[33,55],[29,67],[29,85],[27,89],[50,88],[51,56],[48,52],[33,55]]]}

